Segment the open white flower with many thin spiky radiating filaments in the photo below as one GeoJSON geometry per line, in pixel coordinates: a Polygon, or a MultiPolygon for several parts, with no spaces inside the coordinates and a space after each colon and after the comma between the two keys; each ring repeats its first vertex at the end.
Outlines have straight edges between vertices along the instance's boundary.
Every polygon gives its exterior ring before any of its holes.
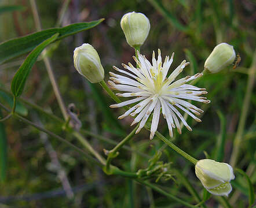
{"type": "Polygon", "coordinates": [[[171,66],[171,63],[173,62],[174,53],[171,55],[171,58],[166,56],[163,65],[160,49],[158,49],[157,61],[155,59],[155,52],[153,51],[152,65],[147,60],[147,58],[145,58],[144,55],[138,53],[138,51],[137,55],[138,60],[136,57],[133,58],[139,66],[138,68],[134,68],[130,62],[128,65],[122,64],[123,67],[129,72],[113,66],[115,70],[127,76],[117,75],[115,73],[109,72],[109,74],[112,76],[110,79],[114,82],[108,81],[112,89],[125,92],[122,94],[118,93],[116,95],[137,98],[111,105],[110,107],[123,107],[131,103],[139,102],[127,110],[125,114],[118,117],[119,119],[122,119],[129,114],[131,116],[135,116],[137,114],[136,118],[131,123],[131,125],[133,125],[137,122],[140,122],[140,126],[138,127],[136,133],[140,132],[140,130],[144,127],[148,117],[153,111],[150,139],[153,139],[156,129],[158,128],[161,107],[162,114],[163,117],[166,118],[171,137],[173,136],[173,128],[175,128],[175,126],[177,127],[178,132],[181,133],[181,127],[178,118],[180,118],[180,120],[189,131],[192,131],[191,127],[189,127],[189,125],[186,123],[184,117],[182,117],[177,108],[189,114],[189,116],[194,118],[196,121],[201,121],[194,114],[199,116],[200,113],[203,113],[203,110],[187,101],[184,101],[183,99],[190,99],[192,101],[203,103],[210,102],[206,98],[200,96],[207,94],[205,88],[198,88],[186,84],[188,81],[194,80],[203,74],[197,73],[194,76],[186,76],[180,80],[174,81],[175,78],[185,68],[185,66],[189,64],[189,62],[186,62],[186,60],[182,61],[181,64],[176,69],[174,69],[170,76],[167,76],[168,70],[171,66]]]}

